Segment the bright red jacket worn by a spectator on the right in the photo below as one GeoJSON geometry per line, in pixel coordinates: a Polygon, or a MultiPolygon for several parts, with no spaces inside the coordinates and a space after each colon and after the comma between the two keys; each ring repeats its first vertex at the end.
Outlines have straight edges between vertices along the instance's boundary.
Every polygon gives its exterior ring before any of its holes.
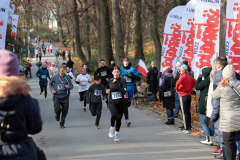
{"type": "Polygon", "coordinates": [[[176,83],[176,91],[179,97],[190,95],[195,87],[196,80],[191,77],[188,72],[180,75],[176,83]]]}

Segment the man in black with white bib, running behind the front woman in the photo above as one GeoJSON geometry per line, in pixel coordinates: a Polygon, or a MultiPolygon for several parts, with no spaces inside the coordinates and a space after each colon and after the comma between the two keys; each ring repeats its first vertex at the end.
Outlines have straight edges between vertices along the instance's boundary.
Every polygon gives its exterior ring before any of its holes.
{"type": "MultiPolygon", "coordinates": [[[[101,67],[96,70],[94,75],[100,75],[101,76],[101,84],[106,88],[107,81],[111,77],[111,71],[110,68],[105,66],[105,60],[101,59],[100,60],[100,65],[101,67]]],[[[106,101],[108,104],[108,101],[106,101]]]]}

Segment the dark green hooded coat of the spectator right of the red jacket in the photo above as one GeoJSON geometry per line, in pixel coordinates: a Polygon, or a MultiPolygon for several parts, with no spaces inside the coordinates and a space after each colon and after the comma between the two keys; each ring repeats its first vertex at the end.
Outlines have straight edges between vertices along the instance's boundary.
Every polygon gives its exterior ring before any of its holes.
{"type": "Polygon", "coordinates": [[[195,89],[200,90],[200,98],[199,98],[199,107],[198,107],[198,113],[205,114],[206,112],[206,106],[207,106],[207,96],[208,96],[208,88],[210,84],[210,72],[212,68],[204,68],[202,70],[202,75],[204,77],[204,80],[202,80],[202,76],[199,76],[197,79],[197,82],[195,84],[195,89]]]}

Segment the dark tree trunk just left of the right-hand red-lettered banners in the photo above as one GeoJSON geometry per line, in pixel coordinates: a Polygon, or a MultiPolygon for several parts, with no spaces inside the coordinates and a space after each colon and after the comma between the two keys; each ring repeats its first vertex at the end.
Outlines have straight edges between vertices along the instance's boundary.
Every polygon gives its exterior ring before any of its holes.
{"type": "Polygon", "coordinates": [[[157,8],[158,0],[152,0],[152,22],[151,22],[151,35],[155,45],[155,53],[156,53],[156,67],[160,70],[161,63],[161,50],[162,45],[159,38],[158,33],[158,8],[157,8]]]}

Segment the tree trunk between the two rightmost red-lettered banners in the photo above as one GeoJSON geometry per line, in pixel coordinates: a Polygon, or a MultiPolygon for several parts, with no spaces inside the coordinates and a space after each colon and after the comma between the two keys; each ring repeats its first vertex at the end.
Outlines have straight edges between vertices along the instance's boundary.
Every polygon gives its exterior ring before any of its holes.
{"type": "Polygon", "coordinates": [[[225,33],[226,33],[226,6],[227,0],[221,2],[221,17],[220,17],[220,39],[219,39],[219,56],[226,56],[226,44],[225,44],[225,33]]]}

